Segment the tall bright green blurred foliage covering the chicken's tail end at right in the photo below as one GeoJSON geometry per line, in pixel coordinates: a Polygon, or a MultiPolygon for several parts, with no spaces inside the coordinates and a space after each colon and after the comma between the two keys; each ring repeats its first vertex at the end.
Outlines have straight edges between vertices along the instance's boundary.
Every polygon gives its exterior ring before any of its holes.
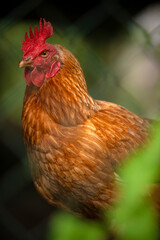
{"type": "Polygon", "coordinates": [[[160,124],[151,139],[119,171],[123,185],[111,218],[123,240],[158,239],[156,211],[149,192],[160,178],[160,124]]]}

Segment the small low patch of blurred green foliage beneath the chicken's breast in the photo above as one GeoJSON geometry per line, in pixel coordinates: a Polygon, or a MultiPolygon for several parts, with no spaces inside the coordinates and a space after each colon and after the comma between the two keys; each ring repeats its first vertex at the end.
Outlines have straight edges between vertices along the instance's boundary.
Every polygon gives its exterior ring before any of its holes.
{"type": "Polygon", "coordinates": [[[47,240],[103,240],[104,233],[100,223],[59,212],[50,220],[47,240]]]}

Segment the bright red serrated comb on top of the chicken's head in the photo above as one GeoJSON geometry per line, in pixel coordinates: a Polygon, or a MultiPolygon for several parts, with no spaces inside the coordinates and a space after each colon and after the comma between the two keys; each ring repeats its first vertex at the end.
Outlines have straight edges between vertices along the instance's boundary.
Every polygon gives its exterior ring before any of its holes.
{"type": "Polygon", "coordinates": [[[46,22],[43,18],[40,18],[39,21],[39,31],[37,26],[34,27],[34,33],[32,32],[31,27],[29,28],[29,35],[27,32],[25,33],[25,41],[22,40],[22,51],[27,52],[31,48],[37,47],[37,45],[41,45],[45,42],[45,40],[53,35],[53,27],[50,22],[46,22]],[[44,26],[43,26],[44,25],[44,26]]]}

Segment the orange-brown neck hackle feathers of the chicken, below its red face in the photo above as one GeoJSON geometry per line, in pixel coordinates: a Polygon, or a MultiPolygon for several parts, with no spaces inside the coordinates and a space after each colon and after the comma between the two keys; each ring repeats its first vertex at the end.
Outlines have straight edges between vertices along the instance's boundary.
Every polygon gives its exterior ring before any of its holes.
{"type": "Polygon", "coordinates": [[[81,68],[63,66],[39,91],[39,99],[48,115],[58,124],[74,126],[98,111],[88,94],[81,68]]]}

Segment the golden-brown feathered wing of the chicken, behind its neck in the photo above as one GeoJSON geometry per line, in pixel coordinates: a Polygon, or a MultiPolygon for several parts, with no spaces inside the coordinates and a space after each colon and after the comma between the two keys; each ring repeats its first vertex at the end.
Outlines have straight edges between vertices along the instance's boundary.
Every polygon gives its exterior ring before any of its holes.
{"type": "Polygon", "coordinates": [[[113,103],[97,101],[100,110],[92,123],[106,146],[107,159],[117,166],[148,139],[151,124],[113,103]]]}

